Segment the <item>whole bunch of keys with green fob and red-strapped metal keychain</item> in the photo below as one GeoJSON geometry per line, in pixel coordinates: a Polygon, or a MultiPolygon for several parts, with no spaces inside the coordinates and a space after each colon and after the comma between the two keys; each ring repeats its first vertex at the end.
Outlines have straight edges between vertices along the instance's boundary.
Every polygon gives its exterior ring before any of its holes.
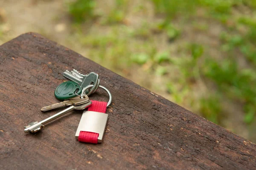
{"type": "MultiPolygon", "coordinates": [[[[84,111],[81,121],[79,123],[78,130],[76,132],[76,138],[79,141],[90,143],[101,143],[105,132],[105,127],[108,121],[108,114],[105,113],[106,108],[111,104],[112,96],[107,88],[99,85],[99,75],[95,72],[91,72],[88,75],[83,75],[73,69],[73,71],[65,71],[64,77],[69,78],[71,81],[66,81],[60,84],[55,89],[55,97],[63,102],[52,104],[47,107],[43,107],[41,111],[48,111],[63,106],[69,106],[61,112],[50,116],[43,121],[35,121],[25,126],[24,132],[35,133],[44,127],[50,121],[59,118],[62,115],[67,114],[72,110],[82,110],[92,106],[92,101],[89,100],[88,95],[95,92],[99,87],[108,92],[110,100],[106,102],[93,101],[94,105],[90,108],[90,111],[84,111]],[[81,95],[80,95],[81,94],[81,95]],[[97,106],[99,104],[100,106],[97,106]],[[97,108],[95,112],[94,108],[97,108]],[[102,109],[99,109],[102,108],[102,109]],[[91,135],[94,135],[94,138],[91,135]],[[87,136],[90,135],[90,136],[87,136]],[[89,141],[87,139],[90,139],[89,141]],[[92,140],[93,139],[93,140],[92,140]]],[[[88,109],[89,110],[89,109],[88,109]]]]}

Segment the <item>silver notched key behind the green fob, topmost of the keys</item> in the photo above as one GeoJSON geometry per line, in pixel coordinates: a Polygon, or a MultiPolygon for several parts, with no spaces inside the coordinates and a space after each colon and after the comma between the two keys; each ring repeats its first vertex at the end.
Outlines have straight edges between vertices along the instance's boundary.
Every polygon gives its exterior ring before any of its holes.
{"type": "Polygon", "coordinates": [[[99,75],[96,74],[95,72],[90,72],[88,75],[83,75],[78,71],[76,71],[75,69],[73,69],[73,71],[71,72],[66,70],[63,73],[63,75],[64,77],[80,84],[82,89],[88,85],[94,84],[94,86],[90,89],[90,91],[85,92],[87,95],[92,94],[99,87],[99,75]]]}

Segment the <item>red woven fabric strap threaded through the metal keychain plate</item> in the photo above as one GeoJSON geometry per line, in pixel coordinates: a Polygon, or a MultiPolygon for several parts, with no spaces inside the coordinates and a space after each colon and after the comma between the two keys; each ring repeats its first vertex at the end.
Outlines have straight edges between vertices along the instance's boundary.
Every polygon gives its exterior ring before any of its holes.
{"type": "MultiPolygon", "coordinates": [[[[88,111],[105,113],[107,110],[107,102],[92,101],[92,105],[88,107],[88,111]]],[[[92,144],[98,143],[99,133],[80,131],[78,141],[87,142],[92,144]]]]}

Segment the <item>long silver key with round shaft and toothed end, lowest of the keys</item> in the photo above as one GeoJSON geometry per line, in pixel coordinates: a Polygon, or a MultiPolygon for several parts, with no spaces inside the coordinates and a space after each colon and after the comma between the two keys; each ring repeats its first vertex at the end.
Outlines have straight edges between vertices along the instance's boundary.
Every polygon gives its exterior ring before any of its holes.
{"type": "Polygon", "coordinates": [[[89,107],[91,104],[92,104],[92,102],[90,101],[90,102],[88,102],[86,104],[81,104],[81,105],[78,105],[78,106],[72,105],[72,106],[68,107],[67,109],[62,110],[61,112],[58,112],[57,114],[52,115],[52,116],[50,116],[47,119],[44,119],[43,121],[40,121],[40,122],[35,121],[35,122],[30,123],[28,126],[24,127],[25,128],[24,132],[25,133],[28,133],[28,132],[35,133],[35,132],[38,132],[39,130],[41,130],[44,127],[45,124],[49,123],[50,121],[53,121],[56,118],[59,118],[62,115],[65,115],[68,112],[71,112],[72,110],[83,110],[83,109],[89,107]]]}

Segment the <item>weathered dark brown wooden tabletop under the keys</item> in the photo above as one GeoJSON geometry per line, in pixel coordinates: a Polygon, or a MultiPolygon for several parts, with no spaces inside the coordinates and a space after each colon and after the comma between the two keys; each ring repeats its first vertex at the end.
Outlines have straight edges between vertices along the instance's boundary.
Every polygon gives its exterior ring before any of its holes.
{"type": "MultiPolygon", "coordinates": [[[[93,61],[28,33],[0,46],[0,169],[256,169],[256,145],[134,84],[93,61]],[[23,126],[57,111],[62,72],[96,72],[113,95],[102,144],[79,143],[82,111],[36,134],[23,126]]],[[[102,95],[92,98],[107,100],[102,95]]]]}

